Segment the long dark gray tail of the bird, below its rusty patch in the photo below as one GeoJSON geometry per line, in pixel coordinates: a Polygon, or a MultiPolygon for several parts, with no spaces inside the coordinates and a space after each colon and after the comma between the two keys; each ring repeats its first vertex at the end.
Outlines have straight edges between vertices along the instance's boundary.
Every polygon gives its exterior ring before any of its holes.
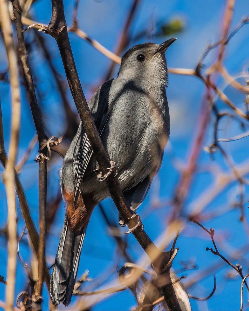
{"type": "Polygon", "coordinates": [[[50,295],[54,305],[63,303],[67,306],[71,301],[86,230],[87,225],[79,234],[73,234],[65,217],[50,282],[50,295]]]}

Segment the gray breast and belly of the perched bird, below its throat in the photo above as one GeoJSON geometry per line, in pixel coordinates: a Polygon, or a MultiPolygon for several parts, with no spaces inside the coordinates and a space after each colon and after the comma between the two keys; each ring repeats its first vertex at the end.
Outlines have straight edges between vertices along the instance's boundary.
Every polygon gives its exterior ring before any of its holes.
{"type": "Polygon", "coordinates": [[[169,135],[169,114],[164,87],[140,87],[134,81],[113,81],[118,96],[103,140],[110,159],[117,162],[120,186],[128,190],[161,165],[169,135]]]}

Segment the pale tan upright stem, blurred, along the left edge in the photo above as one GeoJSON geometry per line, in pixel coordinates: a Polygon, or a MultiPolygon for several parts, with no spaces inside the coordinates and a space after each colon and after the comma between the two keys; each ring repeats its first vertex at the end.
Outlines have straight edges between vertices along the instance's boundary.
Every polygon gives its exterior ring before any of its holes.
{"type": "Polygon", "coordinates": [[[11,19],[8,10],[8,2],[0,1],[1,29],[6,48],[10,84],[12,93],[12,120],[11,138],[9,147],[9,158],[6,163],[3,180],[6,187],[8,203],[8,267],[7,267],[7,290],[6,290],[6,309],[14,309],[15,281],[16,281],[16,192],[15,192],[15,165],[20,132],[20,89],[17,72],[17,58],[15,44],[11,29],[11,19]]]}

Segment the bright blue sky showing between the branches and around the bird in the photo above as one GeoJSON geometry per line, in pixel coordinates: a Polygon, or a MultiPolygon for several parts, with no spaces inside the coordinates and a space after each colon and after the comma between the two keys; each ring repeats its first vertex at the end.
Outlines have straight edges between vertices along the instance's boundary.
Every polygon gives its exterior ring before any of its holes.
{"type": "MultiPolygon", "coordinates": [[[[90,37],[99,41],[107,49],[115,52],[118,44],[119,35],[122,31],[126,16],[132,5],[131,1],[115,1],[115,0],[81,0],[78,11],[79,28],[86,32],[90,37]]],[[[220,26],[224,12],[225,1],[149,1],[141,0],[138,10],[132,22],[130,29],[131,36],[134,37],[141,30],[149,28],[151,23],[160,21],[169,22],[175,18],[183,21],[184,30],[176,35],[177,41],[167,50],[166,58],[168,67],[179,68],[194,68],[200,54],[204,51],[206,45],[211,41],[216,42],[220,38],[220,26]]],[[[72,23],[74,1],[64,1],[65,15],[68,26],[72,23]]],[[[30,14],[32,19],[40,23],[48,24],[51,17],[51,3],[48,0],[39,0],[31,7],[30,14]]],[[[249,15],[248,3],[246,0],[237,1],[233,14],[233,28],[241,20],[242,16],[249,15]]],[[[36,30],[35,30],[36,31],[36,30]]],[[[63,66],[59,57],[59,51],[55,40],[49,35],[43,34],[46,46],[52,56],[53,63],[56,69],[61,74],[61,79],[65,82],[67,97],[74,111],[76,108],[73,103],[72,96],[67,86],[67,81],[64,75],[63,66]]],[[[32,44],[34,40],[33,30],[25,33],[25,38],[28,43],[32,44]]],[[[103,81],[106,70],[110,65],[110,60],[94,49],[87,41],[78,38],[70,33],[69,39],[72,45],[73,55],[78,69],[80,81],[86,98],[92,96],[92,91],[96,86],[99,86],[103,81]]],[[[141,38],[139,41],[132,41],[129,47],[135,44],[148,41],[162,43],[169,37],[154,37],[153,33],[148,33],[148,36],[141,38]]],[[[231,39],[226,47],[224,64],[232,76],[241,74],[243,68],[248,67],[248,49],[249,49],[249,32],[248,25],[242,29],[231,39]]],[[[124,51],[125,52],[125,51],[124,51]]],[[[205,65],[208,67],[217,57],[217,49],[212,51],[205,60],[205,65]]],[[[61,136],[65,129],[65,114],[61,109],[61,98],[57,92],[55,82],[50,72],[49,66],[42,57],[39,49],[31,49],[29,53],[29,61],[33,70],[33,77],[37,90],[39,105],[44,116],[45,127],[48,136],[61,136]]],[[[7,67],[7,59],[3,44],[0,45],[0,70],[1,72],[7,67]]],[[[115,68],[115,74],[118,72],[118,66],[115,68]]],[[[243,107],[245,95],[241,95],[238,91],[231,87],[224,87],[220,77],[215,77],[217,85],[223,89],[226,94],[239,107],[243,107]]],[[[245,83],[243,79],[241,83],[245,83]]],[[[25,90],[22,87],[22,116],[21,116],[21,136],[18,159],[26,152],[29,142],[35,135],[35,128],[31,118],[29,103],[25,95],[25,90]]],[[[1,103],[4,125],[4,138],[6,149],[9,144],[10,131],[10,90],[6,81],[0,83],[1,103]]],[[[151,206],[155,199],[161,202],[169,202],[172,199],[174,190],[179,180],[179,170],[186,165],[190,148],[193,139],[196,135],[199,114],[204,96],[205,87],[202,81],[197,77],[186,77],[181,75],[169,75],[169,87],[167,89],[167,98],[171,115],[171,137],[168,143],[165,155],[163,158],[162,167],[158,176],[155,178],[151,190],[139,208],[139,215],[145,225],[145,230],[152,240],[165,230],[167,226],[167,217],[171,212],[171,206],[162,204],[162,208],[152,209],[151,206]]],[[[217,107],[220,111],[229,111],[229,109],[220,101],[217,100],[217,107]]],[[[204,137],[204,146],[209,145],[213,141],[214,117],[212,116],[209,126],[204,137]]],[[[246,130],[248,125],[246,125],[246,130]]],[[[219,135],[228,137],[229,134],[239,134],[241,129],[233,121],[229,131],[220,131],[219,135]],[[230,131],[230,132],[229,132],[230,131]],[[228,136],[226,136],[228,135],[228,136]]],[[[228,152],[235,165],[241,164],[248,159],[248,142],[246,137],[240,141],[223,143],[223,148],[228,152]]],[[[25,188],[26,197],[35,221],[38,227],[39,212],[38,212],[38,164],[35,164],[34,158],[38,151],[38,146],[34,148],[26,162],[22,172],[20,173],[21,182],[25,188]]],[[[61,167],[62,160],[54,157],[49,164],[49,179],[48,179],[48,199],[57,195],[59,187],[58,169],[61,167]]],[[[186,221],[186,227],[181,232],[177,245],[180,249],[174,261],[173,267],[179,270],[181,261],[194,260],[199,270],[187,271],[188,277],[184,283],[188,283],[191,278],[194,278],[199,271],[202,271],[207,266],[215,263],[222,263],[222,259],[214,256],[211,252],[205,250],[206,247],[212,247],[212,242],[208,234],[199,226],[187,221],[187,215],[191,211],[191,204],[204,193],[209,186],[214,182],[214,176],[210,174],[210,167],[218,171],[222,169],[225,172],[230,172],[223,156],[217,152],[214,154],[212,161],[209,154],[201,150],[198,160],[198,169],[193,183],[184,205],[183,220],[186,221]],[[186,217],[186,218],[184,218],[186,217]]],[[[1,169],[2,173],[3,169],[1,169]]],[[[244,211],[246,221],[248,223],[248,185],[244,186],[244,211]]],[[[238,195],[238,183],[232,183],[221,192],[215,199],[210,202],[204,209],[206,213],[213,212],[221,207],[226,211],[220,216],[204,221],[203,225],[206,228],[215,229],[215,237],[217,237],[218,248],[224,256],[229,255],[235,249],[240,249],[243,245],[248,245],[248,237],[242,226],[239,216],[239,209],[231,209],[232,203],[238,195]]],[[[7,202],[4,185],[0,184],[0,202],[2,218],[0,227],[3,228],[7,221],[7,202]]],[[[113,202],[110,199],[103,203],[104,208],[111,219],[117,220],[117,211],[113,202]]],[[[49,264],[53,263],[56,249],[59,242],[60,231],[62,229],[64,219],[64,204],[61,203],[59,211],[56,215],[55,225],[53,230],[48,232],[46,255],[49,264]]],[[[118,221],[117,221],[118,222],[118,221]]],[[[21,234],[24,227],[21,218],[21,211],[18,207],[18,234],[21,234]]],[[[87,229],[87,235],[84,242],[78,276],[86,269],[89,270],[89,276],[96,278],[102,273],[110,270],[113,262],[118,265],[115,271],[110,273],[110,279],[115,279],[116,271],[124,264],[124,258],[119,258],[116,252],[115,240],[107,234],[107,225],[101,218],[101,211],[96,208],[93,212],[90,224],[87,229]]],[[[125,236],[128,242],[128,252],[131,254],[134,261],[138,260],[143,254],[134,237],[130,234],[125,236]]],[[[1,275],[6,278],[6,240],[0,235],[0,267],[1,275]]],[[[31,251],[27,246],[27,238],[23,238],[20,246],[21,256],[30,266],[31,251]]],[[[239,253],[239,251],[237,251],[239,253]]],[[[246,256],[244,257],[246,258],[246,256]]],[[[233,262],[236,264],[237,262],[233,262]]],[[[248,273],[248,261],[242,260],[239,262],[243,265],[243,271],[248,273]]],[[[231,267],[224,264],[222,268],[215,271],[217,277],[217,290],[213,297],[207,302],[197,302],[190,300],[193,310],[234,310],[240,306],[240,285],[241,278],[235,276],[233,280],[227,281],[227,274],[231,271],[231,267]]],[[[182,273],[184,274],[184,272],[182,273]]],[[[179,274],[181,276],[181,273],[179,274]]],[[[24,269],[18,262],[17,269],[17,284],[16,294],[24,290],[23,279],[26,279],[24,269]]],[[[197,286],[188,289],[189,293],[195,296],[204,297],[212,291],[213,277],[210,273],[202,279],[197,286]]],[[[86,287],[87,288],[87,287],[86,287]]],[[[4,300],[4,285],[0,283],[0,299],[4,300]]],[[[47,289],[44,287],[43,297],[47,301],[47,289]]],[[[246,291],[245,291],[245,297],[246,291]]],[[[127,310],[136,305],[134,296],[127,289],[124,292],[110,296],[94,306],[93,310],[127,310]]],[[[47,308],[44,303],[44,309],[47,308]]],[[[63,309],[63,307],[60,307],[63,309]]]]}

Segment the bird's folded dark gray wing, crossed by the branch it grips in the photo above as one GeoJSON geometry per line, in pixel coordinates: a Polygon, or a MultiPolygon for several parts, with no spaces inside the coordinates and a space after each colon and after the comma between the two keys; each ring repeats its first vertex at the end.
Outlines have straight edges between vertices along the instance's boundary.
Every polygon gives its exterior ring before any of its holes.
{"type": "MultiPolygon", "coordinates": [[[[91,98],[88,106],[92,113],[96,128],[101,136],[110,114],[109,91],[114,79],[102,84],[91,98]]],[[[78,200],[81,181],[93,156],[92,147],[82,123],[79,126],[75,149],[73,152],[73,185],[74,203],[78,200]]]]}

